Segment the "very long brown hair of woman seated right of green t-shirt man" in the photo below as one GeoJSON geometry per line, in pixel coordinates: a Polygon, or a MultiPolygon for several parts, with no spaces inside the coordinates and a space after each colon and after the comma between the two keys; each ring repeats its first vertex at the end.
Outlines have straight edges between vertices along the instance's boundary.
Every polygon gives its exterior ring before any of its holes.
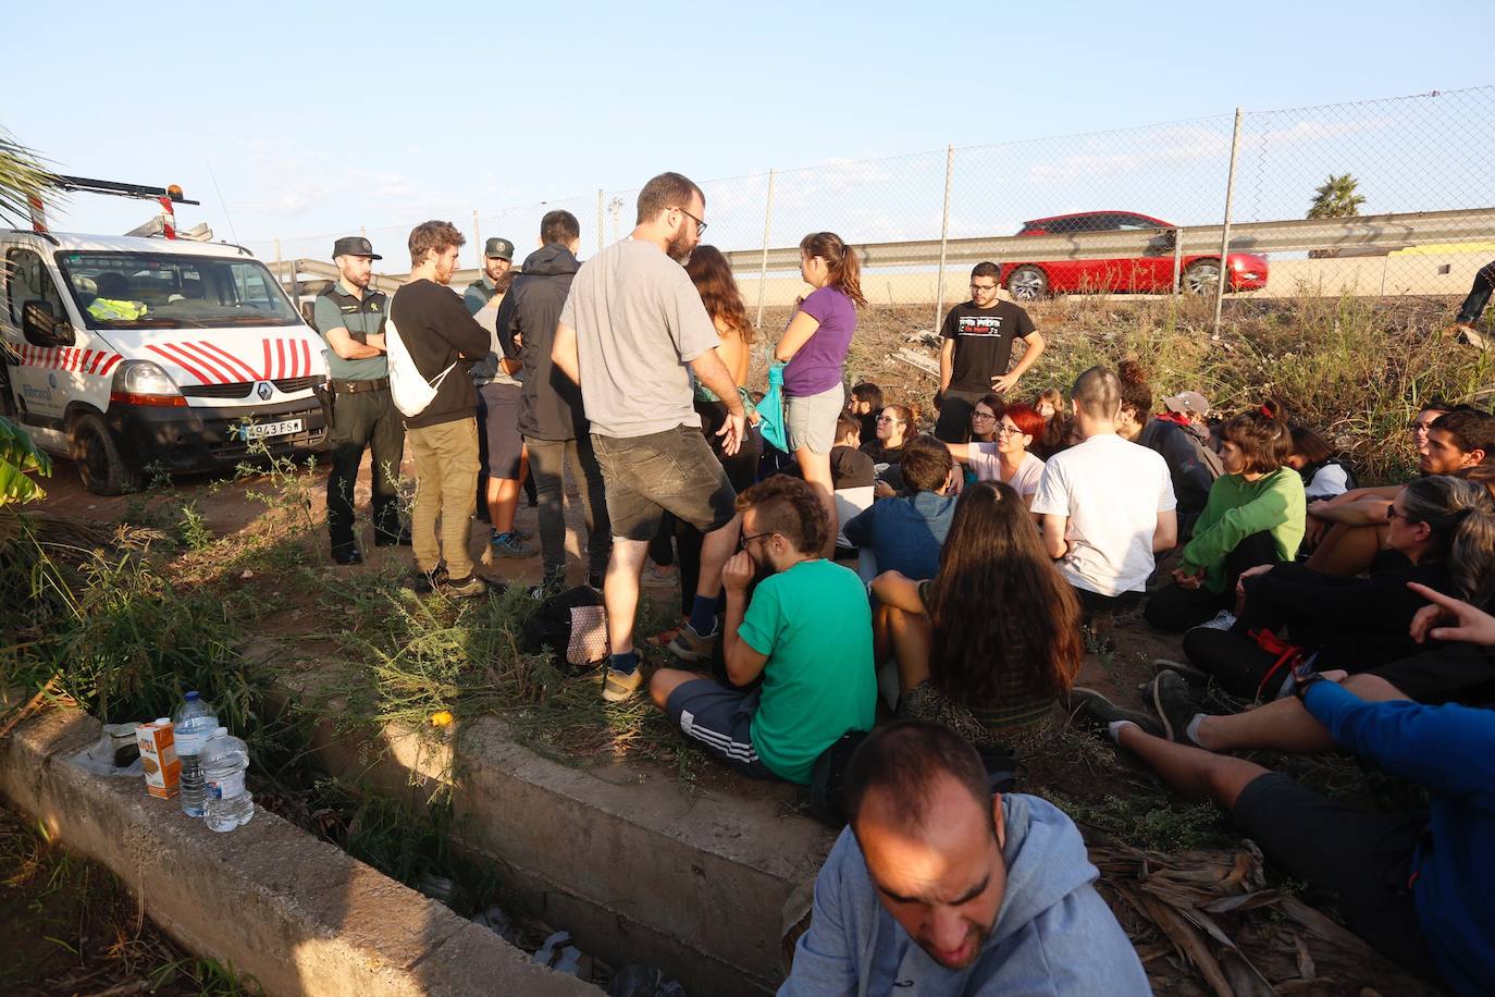
{"type": "Polygon", "coordinates": [[[955,703],[991,703],[1008,668],[1023,668],[1035,692],[1057,697],[1073,685],[1084,656],[1079,601],[1011,486],[978,481],[961,493],[928,608],[930,679],[955,703]]]}

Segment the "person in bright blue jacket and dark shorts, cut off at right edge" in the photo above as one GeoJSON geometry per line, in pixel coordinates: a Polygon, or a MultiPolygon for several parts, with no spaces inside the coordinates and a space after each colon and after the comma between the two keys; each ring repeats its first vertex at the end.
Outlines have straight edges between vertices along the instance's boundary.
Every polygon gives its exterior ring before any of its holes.
{"type": "MultiPolygon", "coordinates": [[[[1419,590],[1434,605],[1413,622],[1417,640],[1495,644],[1495,619],[1419,590]]],[[[1337,894],[1346,924],[1374,949],[1459,994],[1488,994],[1495,982],[1495,710],[1368,701],[1338,685],[1344,676],[1299,671],[1296,694],[1343,747],[1426,786],[1426,812],[1378,813],[1329,800],[1244,758],[1156,737],[1142,714],[1112,709],[1108,731],[1180,794],[1229,810],[1283,873],[1337,894]]]]}

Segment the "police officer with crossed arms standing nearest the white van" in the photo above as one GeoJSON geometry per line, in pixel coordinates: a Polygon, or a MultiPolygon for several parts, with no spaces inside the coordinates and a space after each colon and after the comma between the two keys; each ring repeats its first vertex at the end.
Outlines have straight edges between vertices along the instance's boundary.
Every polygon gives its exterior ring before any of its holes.
{"type": "Polygon", "coordinates": [[[363,561],[353,535],[353,483],[363,450],[374,451],[374,543],[410,544],[410,529],[399,522],[396,481],[405,453],[405,423],[389,392],[384,356],[384,320],[389,296],[369,290],[374,260],[384,257],[362,236],[338,239],[332,262],[342,275],[317,296],[315,326],[327,341],[327,392],[332,402],[327,447],[327,531],[332,559],[341,565],[363,561]]]}

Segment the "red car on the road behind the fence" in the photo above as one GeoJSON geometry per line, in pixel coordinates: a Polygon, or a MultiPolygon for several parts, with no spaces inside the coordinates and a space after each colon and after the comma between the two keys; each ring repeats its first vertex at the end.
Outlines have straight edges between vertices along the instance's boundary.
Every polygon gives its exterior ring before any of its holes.
{"type": "MultiPolygon", "coordinates": [[[[1023,235],[1070,235],[1076,232],[1114,232],[1118,229],[1175,229],[1174,223],[1130,211],[1085,211],[1075,215],[1054,215],[1023,223],[1023,235]]],[[[1174,290],[1174,241],[1159,232],[1154,247],[1145,256],[1114,260],[1049,260],[1044,263],[1003,263],[1002,284],[1020,300],[1045,294],[1075,291],[1142,291],[1171,293],[1174,290]],[[1156,251],[1154,251],[1156,247],[1156,251]]],[[[1256,253],[1232,253],[1227,257],[1230,290],[1266,287],[1266,257],[1256,253]]],[[[1180,285],[1186,291],[1212,290],[1220,280],[1218,253],[1189,253],[1183,257],[1180,285]]]]}

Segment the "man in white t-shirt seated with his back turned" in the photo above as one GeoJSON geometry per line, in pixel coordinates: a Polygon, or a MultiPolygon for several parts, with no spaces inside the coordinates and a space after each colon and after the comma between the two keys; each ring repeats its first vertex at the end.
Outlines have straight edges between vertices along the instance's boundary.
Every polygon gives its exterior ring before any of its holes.
{"type": "Polygon", "coordinates": [[[1070,392],[1079,445],[1044,465],[1033,513],[1085,614],[1141,599],[1154,555],[1178,540],[1174,484],[1156,451],[1117,435],[1121,381],[1094,366],[1070,392]]]}

